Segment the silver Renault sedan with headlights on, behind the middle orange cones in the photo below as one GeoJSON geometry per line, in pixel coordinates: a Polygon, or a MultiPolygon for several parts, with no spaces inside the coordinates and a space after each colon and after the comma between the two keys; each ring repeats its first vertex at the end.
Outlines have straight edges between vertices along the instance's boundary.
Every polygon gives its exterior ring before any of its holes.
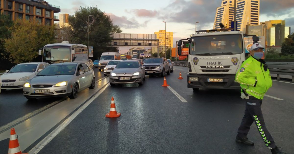
{"type": "Polygon", "coordinates": [[[139,85],[143,85],[144,80],[145,66],[142,66],[137,60],[119,62],[109,76],[111,86],[126,83],[138,83],[139,85]]]}

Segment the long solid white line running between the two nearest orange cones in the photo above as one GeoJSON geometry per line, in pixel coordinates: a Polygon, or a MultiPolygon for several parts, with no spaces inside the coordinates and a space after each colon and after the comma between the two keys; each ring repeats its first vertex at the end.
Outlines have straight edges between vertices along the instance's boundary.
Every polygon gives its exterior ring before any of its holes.
{"type": "Polygon", "coordinates": [[[62,122],[55,130],[53,130],[49,135],[47,135],[41,142],[39,142],[34,148],[32,148],[29,153],[36,154],[42,150],[56,135],[58,135],[76,116],[78,116],[88,105],[91,104],[106,88],[109,86],[109,83],[101,89],[96,95],[94,95],[90,100],[88,100],[82,107],[80,107],[76,112],[74,112],[69,118],[62,122]]]}

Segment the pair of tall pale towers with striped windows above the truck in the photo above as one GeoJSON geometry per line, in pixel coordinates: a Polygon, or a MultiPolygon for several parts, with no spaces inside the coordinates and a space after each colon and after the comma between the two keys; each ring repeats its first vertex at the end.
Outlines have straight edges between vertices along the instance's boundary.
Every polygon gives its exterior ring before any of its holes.
{"type": "MultiPolygon", "coordinates": [[[[236,1],[236,21],[238,22],[237,29],[246,31],[246,25],[258,25],[260,0],[237,0],[236,1]]],[[[222,22],[226,28],[231,27],[231,21],[234,16],[234,0],[223,0],[222,6],[216,9],[216,17],[213,28],[220,28],[218,24],[222,22]]]]}

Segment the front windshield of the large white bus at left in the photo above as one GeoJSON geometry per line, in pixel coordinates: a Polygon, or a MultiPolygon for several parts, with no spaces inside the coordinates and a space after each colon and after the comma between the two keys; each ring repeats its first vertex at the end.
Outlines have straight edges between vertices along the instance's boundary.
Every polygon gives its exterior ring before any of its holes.
{"type": "Polygon", "coordinates": [[[43,62],[49,64],[71,62],[70,46],[46,46],[43,52],[43,62]]]}

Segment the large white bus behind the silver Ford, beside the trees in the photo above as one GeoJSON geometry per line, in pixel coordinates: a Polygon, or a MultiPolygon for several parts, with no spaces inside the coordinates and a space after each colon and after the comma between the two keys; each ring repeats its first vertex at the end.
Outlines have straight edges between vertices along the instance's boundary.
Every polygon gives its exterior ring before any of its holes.
{"type": "Polygon", "coordinates": [[[85,61],[88,62],[88,48],[83,44],[70,44],[68,41],[47,44],[39,50],[42,62],[49,64],[60,62],[85,61]],[[43,51],[43,54],[42,54],[43,51]]]}

